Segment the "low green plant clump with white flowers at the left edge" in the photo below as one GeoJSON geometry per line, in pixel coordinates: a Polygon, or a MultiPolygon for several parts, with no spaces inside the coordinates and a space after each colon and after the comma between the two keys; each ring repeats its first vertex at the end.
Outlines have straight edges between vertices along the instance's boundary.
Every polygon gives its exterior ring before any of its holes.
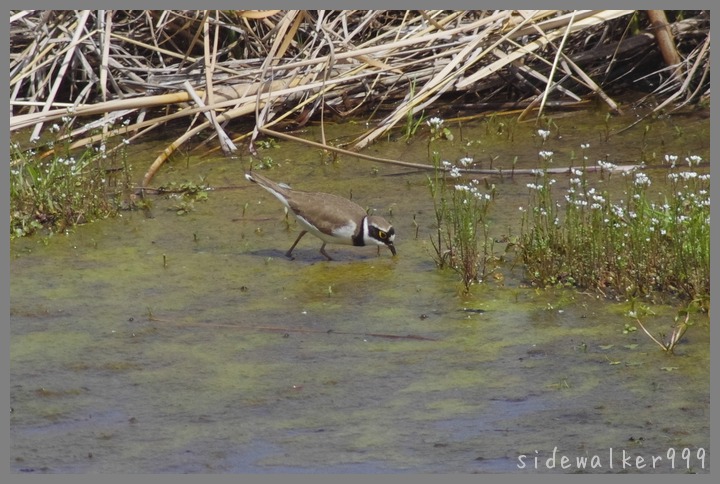
{"type": "MultiPolygon", "coordinates": [[[[66,120],[68,123],[70,119],[66,120]]],[[[58,136],[59,126],[50,130],[58,136]]],[[[40,146],[39,144],[37,144],[40,146]]],[[[113,215],[130,184],[125,143],[109,150],[105,142],[70,152],[67,143],[50,141],[43,149],[10,146],[10,236],[50,233],[113,215]],[[123,193],[124,192],[124,193],[123,193]]]]}

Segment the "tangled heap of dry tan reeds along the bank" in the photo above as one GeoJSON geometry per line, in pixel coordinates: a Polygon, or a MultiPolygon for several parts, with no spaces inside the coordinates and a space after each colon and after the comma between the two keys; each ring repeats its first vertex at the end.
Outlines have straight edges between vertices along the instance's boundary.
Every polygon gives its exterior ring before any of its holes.
{"type": "MultiPolygon", "coordinates": [[[[185,119],[154,169],[202,131],[225,152],[239,139],[324,116],[374,117],[360,150],[448,102],[480,113],[499,99],[542,113],[549,102],[599,96],[611,67],[662,52],[669,102],[709,95],[709,17],[667,23],[652,11],[114,11],[27,10],[10,16],[11,131],[39,136],[72,120],[84,146],[122,131],[142,136],[185,119]],[[651,25],[650,25],[651,22],[651,25]],[[691,48],[679,54],[678,39],[691,48]],[[689,40],[688,40],[689,39],[689,40]],[[448,96],[454,96],[448,101],[448,96]],[[470,100],[470,101],[469,101],[470,100]],[[122,129],[112,122],[122,118],[122,129]],[[235,139],[235,119],[254,128],[235,139]],[[88,120],[81,125],[79,119],[88,120]],[[128,121],[129,120],[129,121],[128,121]],[[102,127],[100,134],[92,134],[102,127]]],[[[630,70],[630,69],[628,69],[630,70]]],[[[638,76],[645,73],[638,73],[638,76]]],[[[666,104],[663,103],[663,106],[666,104]]],[[[457,111],[455,106],[454,110],[457,111]]]]}

